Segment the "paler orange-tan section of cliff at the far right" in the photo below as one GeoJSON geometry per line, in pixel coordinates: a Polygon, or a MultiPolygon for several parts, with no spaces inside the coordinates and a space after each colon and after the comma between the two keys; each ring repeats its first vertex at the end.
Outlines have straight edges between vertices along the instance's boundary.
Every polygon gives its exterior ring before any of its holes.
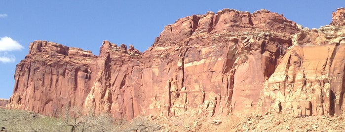
{"type": "Polygon", "coordinates": [[[345,109],[344,72],[345,27],[297,33],[266,81],[263,106],[298,115],[340,115],[345,109]]]}

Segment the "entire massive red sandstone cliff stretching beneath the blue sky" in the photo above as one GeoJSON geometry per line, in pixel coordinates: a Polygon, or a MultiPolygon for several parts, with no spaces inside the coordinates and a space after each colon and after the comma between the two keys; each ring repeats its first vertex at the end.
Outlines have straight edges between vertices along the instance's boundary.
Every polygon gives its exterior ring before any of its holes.
{"type": "Polygon", "coordinates": [[[166,26],[144,53],[103,41],[94,56],[34,41],[17,65],[7,107],[58,116],[70,104],[127,120],[150,114],[340,114],[342,11],[333,15],[333,26],[311,31],[264,9],[192,15],[166,26]]]}

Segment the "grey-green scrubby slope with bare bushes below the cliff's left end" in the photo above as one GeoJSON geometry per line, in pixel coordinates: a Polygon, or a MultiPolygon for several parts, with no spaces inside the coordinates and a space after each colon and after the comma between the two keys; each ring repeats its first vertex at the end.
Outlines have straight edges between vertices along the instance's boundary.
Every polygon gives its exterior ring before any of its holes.
{"type": "Polygon", "coordinates": [[[0,127],[7,132],[119,132],[109,114],[94,115],[76,107],[68,108],[60,118],[30,111],[0,109],[0,127]],[[74,129],[72,129],[74,127],[74,129]]]}

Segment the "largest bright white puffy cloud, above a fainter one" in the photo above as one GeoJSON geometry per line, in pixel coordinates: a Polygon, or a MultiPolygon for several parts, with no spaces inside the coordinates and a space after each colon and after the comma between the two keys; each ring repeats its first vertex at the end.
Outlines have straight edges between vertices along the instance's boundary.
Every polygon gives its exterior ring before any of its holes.
{"type": "Polygon", "coordinates": [[[24,47],[20,45],[16,40],[10,37],[4,36],[0,38],[0,52],[1,51],[14,51],[22,50],[24,47]]]}

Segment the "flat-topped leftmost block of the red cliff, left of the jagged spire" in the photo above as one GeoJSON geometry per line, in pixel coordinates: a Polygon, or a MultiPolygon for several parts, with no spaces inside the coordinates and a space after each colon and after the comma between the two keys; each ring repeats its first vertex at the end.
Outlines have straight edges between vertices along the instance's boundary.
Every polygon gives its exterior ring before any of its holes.
{"type": "Polygon", "coordinates": [[[90,51],[47,41],[35,41],[16,67],[11,109],[56,115],[65,104],[80,104],[90,92],[90,51]]]}

